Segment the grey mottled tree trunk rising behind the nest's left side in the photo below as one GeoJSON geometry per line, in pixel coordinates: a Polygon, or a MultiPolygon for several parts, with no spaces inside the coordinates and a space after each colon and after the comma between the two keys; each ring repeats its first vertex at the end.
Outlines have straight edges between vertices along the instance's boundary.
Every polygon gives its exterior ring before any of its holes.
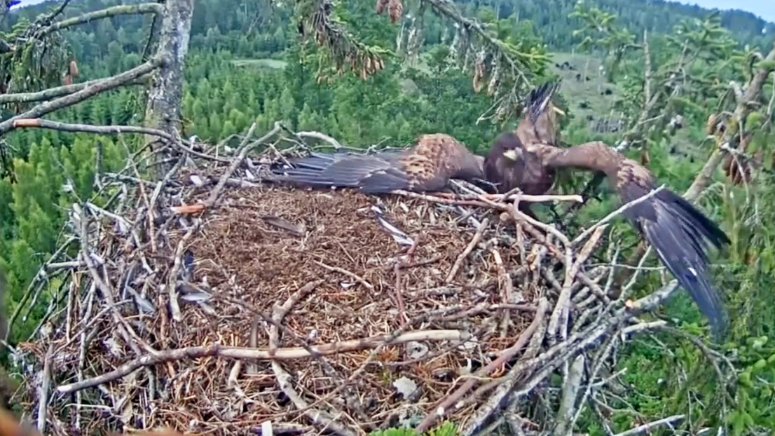
{"type": "MultiPolygon", "coordinates": [[[[177,135],[181,130],[181,100],[183,98],[183,69],[188,40],[191,37],[191,17],[194,0],[167,0],[159,27],[158,54],[164,64],[153,75],[153,82],[146,103],[145,126],[177,135]]],[[[157,137],[145,137],[146,144],[153,144],[157,137]]],[[[150,147],[153,150],[153,147],[150,147]]],[[[164,160],[157,154],[157,161],[164,160]]],[[[158,178],[164,177],[172,164],[167,161],[157,165],[158,178]]]]}

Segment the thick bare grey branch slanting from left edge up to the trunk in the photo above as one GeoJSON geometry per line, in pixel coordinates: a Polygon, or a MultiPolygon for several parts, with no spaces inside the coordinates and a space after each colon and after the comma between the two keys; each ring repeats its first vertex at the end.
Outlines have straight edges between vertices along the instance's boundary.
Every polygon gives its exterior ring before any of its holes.
{"type": "Polygon", "coordinates": [[[13,116],[12,118],[6,119],[0,123],[0,135],[13,130],[14,122],[17,119],[39,118],[40,116],[46,115],[47,113],[53,112],[55,110],[63,109],[67,106],[72,106],[101,92],[109,91],[113,88],[118,88],[119,86],[126,84],[128,81],[133,81],[136,78],[140,78],[140,76],[150,73],[161,64],[163,64],[163,61],[160,57],[153,57],[145,64],[134,67],[131,70],[125,71],[121,74],[116,74],[112,78],[102,79],[102,81],[96,83],[95,85],[81,89],[81,91],[74,92],[73,94],[67,95],[66,97],[60,97],[59,99],[51,100],[50,102],[41,103],[40,105],[35,106],[33,109],[29,109],[27,112],[13,116]]]}

